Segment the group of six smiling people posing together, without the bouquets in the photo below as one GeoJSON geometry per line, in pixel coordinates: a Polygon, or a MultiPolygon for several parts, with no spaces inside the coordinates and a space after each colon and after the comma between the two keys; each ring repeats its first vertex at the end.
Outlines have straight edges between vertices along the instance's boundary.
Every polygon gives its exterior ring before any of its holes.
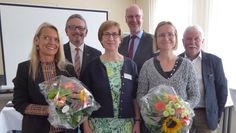
{"type": "Polygon", "coordinates": [[[79,14],[66,21],[69,42],[64,46],[55,26],[39,26],[30,59],[18,65],[13,79],[13,104],[23,115],[23,133],[149,133],[140,115],[140,98],[160,84],[173,86],[194,109],[191,133],[216,133],[227,99],[227,80],[222,60],[202,50],[202,29],[186,28],[185,51],[175,55],[178,34],[171,22],[160,22],[154,36],[146,33],[143,11],[136,4],[126,9],[125,20],[130,35],[123,39],[117,22],[108,20],[99,27],[103,54],[85,44],[88,28],[79,14]],[[77,77],[101,105],[78,129],[53,127],[47,120],[50,109],[39,83],[57,75],[77,77]]]}

